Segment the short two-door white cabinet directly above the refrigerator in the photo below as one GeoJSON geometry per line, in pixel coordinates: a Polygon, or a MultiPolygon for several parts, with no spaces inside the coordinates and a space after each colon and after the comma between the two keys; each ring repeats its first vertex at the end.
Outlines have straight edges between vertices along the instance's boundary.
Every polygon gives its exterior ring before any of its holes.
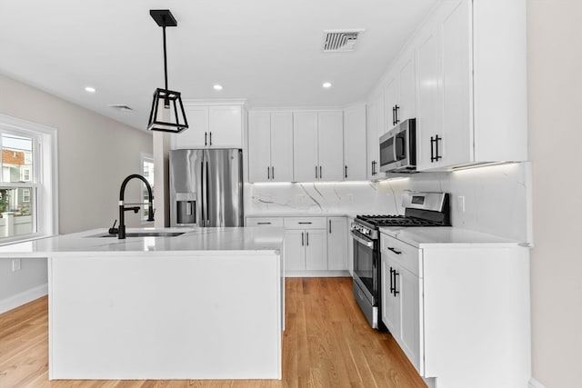
{"type": "Polygon", "coordinates": [[[243,148],[243,104],[185,101],[188,129],[172,134],[172,148],[243,148]]]}

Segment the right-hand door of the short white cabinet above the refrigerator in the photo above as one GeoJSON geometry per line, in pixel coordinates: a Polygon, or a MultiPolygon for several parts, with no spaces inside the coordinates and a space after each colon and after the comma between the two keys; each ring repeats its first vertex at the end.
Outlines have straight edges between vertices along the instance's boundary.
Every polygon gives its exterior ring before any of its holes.
{"type": "Polygon", "coordinates": [[[243,148],[242,107],[239,105],[208,107],[208,145],[243,148]]]}

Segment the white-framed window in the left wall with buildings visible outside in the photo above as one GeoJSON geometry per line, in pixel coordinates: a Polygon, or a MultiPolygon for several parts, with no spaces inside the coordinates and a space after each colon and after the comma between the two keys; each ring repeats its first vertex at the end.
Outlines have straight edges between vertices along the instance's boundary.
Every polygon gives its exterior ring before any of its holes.
{"type": "Polygon", "coordinates": [[[0,114],[0,244],[55,234],[55,135],[0,114]]]}

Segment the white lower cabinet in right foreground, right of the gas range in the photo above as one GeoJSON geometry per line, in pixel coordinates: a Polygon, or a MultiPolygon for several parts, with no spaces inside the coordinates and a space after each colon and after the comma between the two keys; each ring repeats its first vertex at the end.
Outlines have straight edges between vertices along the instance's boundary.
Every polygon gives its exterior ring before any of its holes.
{"type": "Polygon", "coordinates": [[[382,321],[439,388],[526,387],[531,376],[528,249],[481,238],[419,249],[380,237],[382,321]]]}

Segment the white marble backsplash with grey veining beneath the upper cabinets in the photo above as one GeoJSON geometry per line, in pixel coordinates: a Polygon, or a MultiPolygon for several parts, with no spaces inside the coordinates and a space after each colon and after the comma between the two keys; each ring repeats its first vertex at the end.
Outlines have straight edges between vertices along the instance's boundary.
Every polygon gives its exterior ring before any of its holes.
{"type": "Polygon", "coordinates": [[[403,214],[405,190],[445,192],[453,226],[531,243],[529,163],[379,182],[245,184],[246,214],[403,214]],[[464,197],[465,210],[459,197],[464,197]]]}

